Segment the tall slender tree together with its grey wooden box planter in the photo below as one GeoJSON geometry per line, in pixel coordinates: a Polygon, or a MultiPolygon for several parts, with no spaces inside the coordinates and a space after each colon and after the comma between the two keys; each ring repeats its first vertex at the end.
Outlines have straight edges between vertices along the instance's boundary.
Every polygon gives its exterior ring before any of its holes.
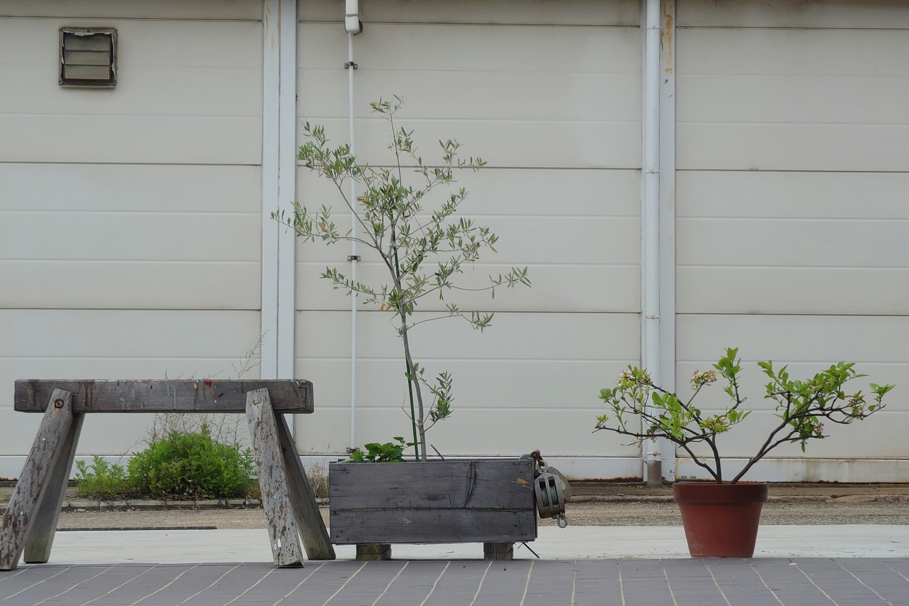
{"type": "Polygon", "coordinates": [[[439,142],[439,163],[425,164],[416,153],[412,131],[395,126],[402,103],[395,97],[394,102],[380,99],[371,104],[389,126],[389,149],[395,158],[391,166],[360,163],[349,145],[330,147],[324,127],[304,126],[306,142],[297,158],[335,185],[345,214],[354,221],[351,231],[338,230],[325,204],[310,210],[294,203],[293,214],[273,215],[305,240],[359,244],[385,274],[385,283],[371,284],[335,267],[322,273],[335,289],[389,313],[404,353],[410,395],[410,411],[405,414],[413,442],[399,437],[396,443],[369,443],[366,452],[353,453],[357,464],[329,467],[332,541],[357,543],[358,558],[367,559],[388,557],[391,542],[532,541],[536,536],[531,460],[427,460],[426,432],[452,414],[453,379],[450,373],[426,378],[425,368],[411,353],[412,331],[417,324],[445,317],[460,318],[483,331],[493,314],[462,312],[456,304],[446,303],[445,312],[415,321],[417,306],[426,297],[445,300],[463,291],[489,291],[494,296],[497,288],[529,286],[530,280],[526,268],[514,267],[504,275],[490,275],[479,287],[456,283],[481,253],[495,252],[498,237],[470,219],[454,218],[467,197],[464,188],[445,192],[435,204],[432,199],[454,183],[457,170],[479,170],[485,163],[480,158],[461,159],[460,144],[448,140],[439,142]],[[362,194],[353,195],[353,187],[347,190],[352,182],[362,187],[362,194]],[[419,463],[404,462],[409,447],[414,447],[419,463]],[[374,544],[370,547],[375,551],[361,553],[366,544],[374,544]]]}

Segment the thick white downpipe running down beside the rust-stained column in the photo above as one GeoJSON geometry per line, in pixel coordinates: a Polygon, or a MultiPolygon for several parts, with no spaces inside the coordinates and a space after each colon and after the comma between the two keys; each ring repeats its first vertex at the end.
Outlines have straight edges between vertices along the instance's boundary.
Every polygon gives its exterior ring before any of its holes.
{"type": "MultiPolygon", "coordinates": [[[[641,362],[660,385],[660,0],[645,2],[641,362]]],[[[661,444],[645,441],[642,457],[660,449],[661,444]]]]}

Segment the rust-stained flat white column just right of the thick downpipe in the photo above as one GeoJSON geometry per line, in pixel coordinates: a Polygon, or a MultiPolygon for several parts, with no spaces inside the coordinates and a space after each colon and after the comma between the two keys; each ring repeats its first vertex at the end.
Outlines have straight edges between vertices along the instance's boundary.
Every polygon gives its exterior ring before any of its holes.
{"type": "MultiPolygon", "coordinates": [[[[675,389],[675,0],[660,18],[660,381],[675,389]]],[[[675,479],[674,444],[660,445],[663,477],[675,479]]]]}

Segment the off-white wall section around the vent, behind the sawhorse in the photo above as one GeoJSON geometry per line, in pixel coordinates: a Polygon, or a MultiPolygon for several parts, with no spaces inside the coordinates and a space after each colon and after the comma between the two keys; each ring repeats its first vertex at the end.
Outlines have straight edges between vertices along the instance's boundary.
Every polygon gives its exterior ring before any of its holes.
{"type": "MultiPolygon", "coordinates": [[[[226,377],[258,341],[261,20],[254,0],[0,2],[0,475],[39,422],[15,379],[226,377]],[[63,25],[117,28],[115,89],[57,84],[63,25]]],[[[80,453],[148,421],[93,416],[80,453]]]]}

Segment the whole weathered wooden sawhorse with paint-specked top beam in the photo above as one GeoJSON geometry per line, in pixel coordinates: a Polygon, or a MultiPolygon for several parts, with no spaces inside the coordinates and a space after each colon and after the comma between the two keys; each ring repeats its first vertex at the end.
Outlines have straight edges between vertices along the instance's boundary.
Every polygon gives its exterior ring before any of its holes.
{"type": "Polygon", "coordinates": [[[44,418],[0,526],[0,570],[50,558],[88,412],[245,412],[275,566],[303,565],[301,537],[310,560],[335,559],[284,418],[313,412],[311,382],[16,381],[15,410],[44,418]]]}

